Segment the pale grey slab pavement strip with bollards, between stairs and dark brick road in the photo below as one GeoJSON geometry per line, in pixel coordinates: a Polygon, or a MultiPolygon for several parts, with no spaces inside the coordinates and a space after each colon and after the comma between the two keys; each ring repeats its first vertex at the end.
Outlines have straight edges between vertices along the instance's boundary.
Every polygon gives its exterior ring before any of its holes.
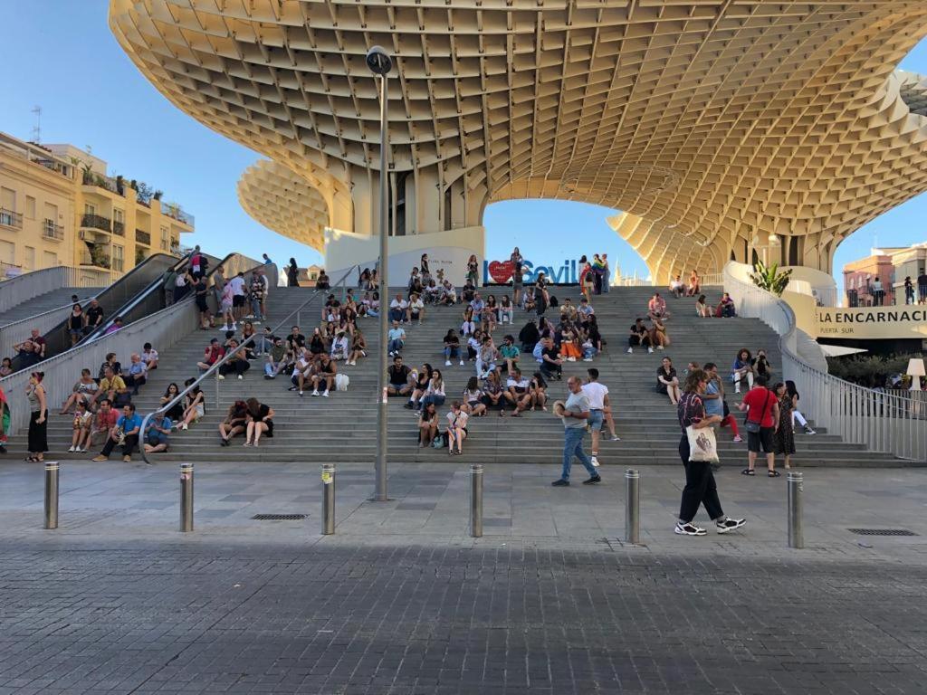
{"type": "MultiPolygon", "coordinates": [[[[493,465],[484,480],[484,538],[468,534],[469,466],[393,466],[386,503],[368,501],[369,466],[337,469],[337,532],[320,537],[319,467],[267,463],[199,464],[195,524],[178,533],[179,474],[174,464],[62,463],[60,528],[42,530],[43,470],[34,464],[0,468],[0,540],[120,544],[135,539],[222,543],[481,546],[616,549],[624,537],[624,470],[603,469],[600,486],[553,488],[559,466],[493,465]],[[305,514],[264,522],[256,514],[305,514]]],[[[684,484],[681,467],[641,469],[641,552],[722,553],[763,558],[801,556],[883,558],[927,565],[927,472],[917,469],[806,471],[806,550],[787,548],[785,476],[749,478],[730,466],[717,474],[724,510],[744,517],[742,532],[718,536],[700,510],[707,537],[679,537],[673,524],[684,484]],[[850,528],[902,528],[909,537],[869,537],[850,528]]]]}

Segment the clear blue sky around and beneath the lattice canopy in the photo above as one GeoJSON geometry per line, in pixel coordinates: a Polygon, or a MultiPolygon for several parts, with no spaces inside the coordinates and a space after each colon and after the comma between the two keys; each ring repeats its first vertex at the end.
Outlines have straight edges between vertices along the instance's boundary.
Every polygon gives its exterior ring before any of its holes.
{"type": "MultiPolygon", "coordinates": [[[[133,67],[107,25],[106,0],[0,0],[0,131],[32,139],[40,105],[42,140],[91,145],[111,173],[165,192],[197,217],[185,238],[211,253],[266,251],[274,260],[319,259],[308,246],[273,234],[238,205],[235,183],[258,155],[213,133],[172,107],[133,67]]],[[[900,66],[927,74],[927,42],[900,66]]],[[[527,259],[556,265],[580,253],[605,252],[623,272],[647,275],[633,249],[605,223],[609,208],[559,201],[510,201],[486,212],[489,259],[508,258],[513,245],[527,259]]],[[[895,208],[838,249],[834,268],[882,246],[927,240],[927,196],[895,208]]]]}

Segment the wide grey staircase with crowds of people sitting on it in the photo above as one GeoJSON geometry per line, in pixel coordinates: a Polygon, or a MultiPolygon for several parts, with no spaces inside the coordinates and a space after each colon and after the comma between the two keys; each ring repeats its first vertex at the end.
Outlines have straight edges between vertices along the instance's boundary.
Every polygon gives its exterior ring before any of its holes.
{"type": "MultiPolygon", "coordinates": [[[[488,288],[488,293],[499,297],[500,288],[488,288]]],[[[668,299],[672,317],[667,329],[672,345],[665,352],[636,349],[633,355],[625,352],[629,325],[636,316],[646,314],[647,299],[652,289],[616,288],[608,295],[594,297],[593,305],[608,341],[605,352],[592,363],[583,361],[565,364],[564,375],[585,376],[586,369],[595,366],[601,373],[601,381],[611,391],[616,408],[616,424],[620,442],[603,442],[599,459],[605,466],[638,466],[643,464],[678,465],[679,425],[675,408],[666,396],[654,390],[655,372],[664,355],[672,358],[681,374],[689,360],[699,363],[715,361],[722,373],[728,373],[734,355],[740,347],[756,352],[757,348],[767,350],[774,368],[781,366],[777,336],[768,327],[752,319],[698,319],[695,316],[692,299],[668,299]]],[[[395,294],[393,292],[392,294],[395,294]]],[[[556,287],[553,289],[561,301],[571,297],[578,301],[576,288],[556,287]]],[[[717,300],[717,288],[708,291],[709,300],[717,300]]],[[[268,323],[275,326],[286,315],[311,296],[306,288],[274,288],[270,297],[268,323]]],[[[309,335],[321,316],[321,297],[301,316],[301,328],[309,335]]],[[[555,310],[549,312],[553,316],[555,310]]],[[[514,326],[501,326],[495,335],[512,333],[517,335],[529,317],[516,312],[514,326]]],[[[296,322],[295,320],[293,322],[296,322]]],[[[441,409],[448,411],[450,402],[463,391],[467,379],[474,373],[472,364],[464,367],[456,363],[443,366],[441,338],[449,327],[457,329],[461,322],[461,308],[431,308],[426,310],[425,322],[407,326],[408,341],[403,358],[410,366],[421,366],[425,361],[442,371],[446,382],[448,402],[441,409]]],[[[156,461],[240,461],[253,465],[261,461],[306,460],[321,463],[363,462],[371,463],[375,457],[375,386],[377,347],[376,320],[362,319],[361,329],[367,338],[370,357],[356,367],[338,365],[339,372],[347,373],[350,386],[347,392],[333,391],[330,398],[311,398],[309,392],[298,398],[295,392],[286,390],[288,375],[277,379],[263,378],[263,362],[256,360],[244,380],[228,378],[218,385],[221,406],[215,405],[216,382],[204,385],[207,395],[207,414],[187,432],[171,436],[171,451],[156,454],[156,461]],[[244,448],[243,439],[237,438],[228,448],[219,446],[218,423],[222,421],[229,404],[235,398],[258,398],[270,405],[276,415],[273,439],[266,439],[259,449],[244,448]]],[[[263,326],[258,326],[259,331],[263,326]]],[[[279,333],[285,334],[288,325],[279,333]]],[[[197,374],[195,366],[203,348],[219,331],[200,331],[181,344],[161,355],[159,369],[152,374],[149,384],[136,397],[135,403],[141,413],[154,410],[159,397],[170,382],[183,384],[185,378],[197,374]]],[[[141,347],[141,346],[139,346],[141,347]]],[[[156,346],[157,347],[157,346],[156,346]]],[[[123,362],[128,356],[121,356],[123,362]]],[[[523,372],[534,371],[530,355],[522,358],[523,372]]],[[[87,365],[93,370],[98,365],[87,365]]],[[[775,375],[775,374],[774,374],[775,375]]],[[[75,374],[75,380],[77,378],[75,374]]],[[[563,382],[553,382],[548,391],[552,399],[565,398],[563,382]]],[[[51,403],[59,407],[67,394],[52,394],[51,403]]],[[[732,389],[728,402],[733,410],[735,397],[732,389]]],[[[438,465],[448,459],[447,449],[418,449],[416,419],[412,411],[402,408],[404,399],[391,398],[389,404],[389,443],[392,461],[421,462],[438,465]]],[[[735,411],[736,412],[736,411],[735,411]]],[[[464,445],[464,461],[494,462],[547,462],[557,463],[561,459],[562,431],[559,420],[549,412],[527,412],[522,418],[500,418],[495,412],[485,418],[471,420],[470,436],[464,445]]],[[[729,429],[721,431],[719,447],[721,460],[729,465],[739,466],[746,461],[746,445],[733,443],[729,429]]],[[[745,438],[745,433],[742,435],[745,438]]],[[[68,454],[70,446],[70,417],[56,414],[51,416],[49,444],[52,452],[49,458],[83,458],[86,454],[68,454]],[[62,453],[65,452],[65,453],[62,453]]],[[[589,440],[587,439],[587,449],[589,440]]],[[[801,466],[897,466],[904,465],[893,457],[871,453],[858,445],[846,444],[837,436],[819,432],[817,436],[796,434],[797,454],[795,461],[801,466]]],[[[25,436],[17,436],[10,443],[10,456],[23,454],[25,436]]],[[[115,455],[113,461],[118,461],[115,455]]],[[[137,458],[137,457],[136,457],[137,458]]],[[[121,463],[121,462],[120,462],[121,463]]]]}

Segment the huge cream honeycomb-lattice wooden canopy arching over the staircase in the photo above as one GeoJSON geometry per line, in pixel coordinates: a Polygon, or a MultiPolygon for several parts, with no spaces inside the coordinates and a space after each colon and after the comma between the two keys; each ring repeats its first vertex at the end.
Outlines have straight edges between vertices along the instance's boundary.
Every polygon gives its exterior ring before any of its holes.
{"type": "Polygon", "coordinates": [[[109,22],[177,107],[324,173],[366,233],[372,44],[396,57],[390,166],[413,172],[419,232],[556,197],[626,211],[618,233],[658,279],[770,234],[829,271],[847,234],[927,190],[923,79],[895,71],[923,0],[110,0],[109,22]]]}

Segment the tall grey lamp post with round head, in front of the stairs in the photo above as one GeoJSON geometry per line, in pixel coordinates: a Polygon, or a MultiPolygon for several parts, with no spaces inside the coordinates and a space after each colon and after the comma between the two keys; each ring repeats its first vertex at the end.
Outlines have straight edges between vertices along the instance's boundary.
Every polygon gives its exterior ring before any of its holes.
{"type": "Polygon", "coordinates": [[[388,113],[388,87],[387,75],[393,67],[393,61],[382,47],[375,45],[367,51],[367,67],[375,75],[380,76],[380,359],[379,373],[376,376],[377,406],[376,406],[376,462],[375,477],[376,490],[374,501],[385,502],[387,499],[387,331],[389,307],[389,256],[387,255],[388,240],[388,208],[387,208],[387,135],[388,113]]]}

